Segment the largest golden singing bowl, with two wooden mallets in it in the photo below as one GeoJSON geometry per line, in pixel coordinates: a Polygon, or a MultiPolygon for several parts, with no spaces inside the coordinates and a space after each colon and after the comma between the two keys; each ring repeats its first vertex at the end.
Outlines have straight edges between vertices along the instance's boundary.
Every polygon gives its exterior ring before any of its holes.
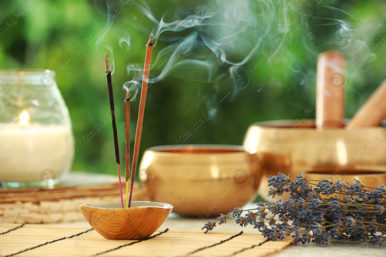
{"type": "MultiPolygon", "coordinates": [[[[386,165],[384,127],[325,129],[317,131],[315,120],[301,115],[296,121],[252,124],[245,136],[247,151],[256,152],[262,165],[259,194],[267,197],[270,175],[278,172],[295,178],[310,170],[341,168],[346,175],[355,170],[383,170],[386,165]],[[303,119],[303,120],[301,120],[303,119]]],[[[288,193],[274,199],[288,198],[288,193]]]]}

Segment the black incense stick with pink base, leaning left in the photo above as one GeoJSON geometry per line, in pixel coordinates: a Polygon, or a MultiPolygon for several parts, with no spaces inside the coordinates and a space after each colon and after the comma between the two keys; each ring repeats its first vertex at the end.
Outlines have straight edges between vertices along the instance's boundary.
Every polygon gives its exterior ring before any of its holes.
{"type": "Polygon", "coordinates": [[[119,190],[120,190],[121,203],[122,203],[122,208],[123,208],[122,183],[121,183],[121,180],[120,180],[120,170],[119,170],[119,147],[118,147],[117,124],[115,124],[115,109],[114,109],[114,98],[113,98],[113,85],[111,84],[110,63],[108,62],[108,55],[107,54],[105,54],[105,64],[106,64],[106,77],[107,77],[107,87],[108,87],[108,98],[110,100],[111,122],[113,124],[115,161],[117,161],[118,176],[119,176],[119,190]]]}

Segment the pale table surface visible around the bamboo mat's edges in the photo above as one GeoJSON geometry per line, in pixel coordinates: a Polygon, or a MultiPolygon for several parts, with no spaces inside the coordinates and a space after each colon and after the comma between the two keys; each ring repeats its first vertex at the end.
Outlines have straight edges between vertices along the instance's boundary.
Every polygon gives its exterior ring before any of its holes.
{"type": "MultiPolygon", "coordinates": [[[[245,208],[254,208],[255,205],[249,204],[245,208]]],[[[175,229],[175,230],[186,230],[187,227],[190,227],[191,230],[201,230],[206,222],[213,220],[213,218],[204,218],[203,220],[196,218],[186,218],[178,216],[174,213],[166,219],[161,229],[175,229]],[[196,223],[194,223],[196,221],[196,223]],[[196,225],[195,225],[196,224],[196,225]]],[[[239,224],[236,224],[235,218],[228,218],[226,224],[217,225],[213,231],[222,231],[222,232],[255,232],[260,233],[253,226],[247,225],[247,227],[241,228],[239,224]]],[[[79,225],[79,226],[89,226],[86,221],[84,222],[66,222],[60,223],[61,225],[79,225]]],[[[210,232],[208,232],[210,233],[210,232]]],[[[386,244],[385,244],[386,245],[386,244]]],[[[374,245],[366,245],[365,243],[334,243],[328,246],[318,245],[315,243],[310,244],[290,244],[288,247],[283,250],[269,255],[269,257],[362,257],[362,256],[371,256],[371,257],[384,257],[386,255],[386,246],[379,247],[374,245]]]]}

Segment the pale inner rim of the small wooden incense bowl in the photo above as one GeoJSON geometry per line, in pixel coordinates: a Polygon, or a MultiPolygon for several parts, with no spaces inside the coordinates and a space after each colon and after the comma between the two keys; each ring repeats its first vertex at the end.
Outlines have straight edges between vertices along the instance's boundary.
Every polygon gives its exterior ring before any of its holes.
{"type": "Polygon", "coordinates": [[[79,203],[79,207],[88,207],[92,209],[101,209],[101,210],[110,210],[115,207],[115,212],[130,212],[130,210],[139,209],[139,208],[162,208],[162,209],[173,209],[173,205],[169,203],[159,203],[159,202],[149,202],[149,201],[132,201],[130,208],[122,208],[121,203],[107,203],[107,204],[88,204],[88,203],[79,203]],[[116,207],[115,205],[118,205],[116,207]]]}

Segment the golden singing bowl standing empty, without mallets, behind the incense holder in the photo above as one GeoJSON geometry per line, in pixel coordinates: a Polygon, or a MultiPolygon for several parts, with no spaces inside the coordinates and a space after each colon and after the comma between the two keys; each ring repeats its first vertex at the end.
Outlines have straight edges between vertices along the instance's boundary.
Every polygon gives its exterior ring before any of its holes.
{"type": "Polygon", "coordinates": [[[260,182],[256,155],[242,146],[156,146],[145,151],[140,183],[156,202],[174,212],[208,217],[227,213],[254,200],[260,182]]]}

